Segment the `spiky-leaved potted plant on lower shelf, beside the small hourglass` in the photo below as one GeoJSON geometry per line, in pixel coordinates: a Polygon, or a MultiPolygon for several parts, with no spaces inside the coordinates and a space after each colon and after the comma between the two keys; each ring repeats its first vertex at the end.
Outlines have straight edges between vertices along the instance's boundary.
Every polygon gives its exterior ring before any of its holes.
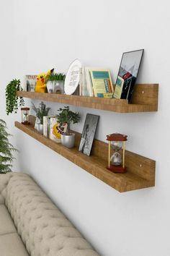
{"type": "Polygon", "coordinates": [[[32,109],[37,116],[35,120],[35,129],[37,129],[38,132],[43,133],[43,116],[48,116],[50,108],[46,108],[45,104],[41,101],[39,108],[36,108],[35,104],[32,103],[32,109]]]}

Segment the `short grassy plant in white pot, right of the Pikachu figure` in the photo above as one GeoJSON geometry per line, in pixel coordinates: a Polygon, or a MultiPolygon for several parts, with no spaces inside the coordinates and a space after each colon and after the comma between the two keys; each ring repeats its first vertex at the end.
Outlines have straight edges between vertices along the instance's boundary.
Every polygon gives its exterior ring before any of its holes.
{"type": "Polygon", "coordinates": [[[63,93],[63,84],[66,75],[51,72],[46,77],[48,93],[63,93]]]}

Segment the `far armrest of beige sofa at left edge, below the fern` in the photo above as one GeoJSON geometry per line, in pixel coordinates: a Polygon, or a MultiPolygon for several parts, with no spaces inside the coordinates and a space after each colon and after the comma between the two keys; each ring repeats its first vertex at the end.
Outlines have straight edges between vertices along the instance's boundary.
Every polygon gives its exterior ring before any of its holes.
{"type": "Polygon", "coordinates": [[[0,174],[0,204],[3,204],[6,197],[6,186],[13,176],[12,172],[7,174],[0,174]]]}

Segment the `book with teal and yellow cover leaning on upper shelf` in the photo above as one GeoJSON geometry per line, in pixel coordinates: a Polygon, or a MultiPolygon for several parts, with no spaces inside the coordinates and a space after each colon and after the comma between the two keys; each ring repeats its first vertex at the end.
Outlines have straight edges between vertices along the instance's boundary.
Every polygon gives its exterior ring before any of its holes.
{"type": "Polygon", "coordinates": [[[95,97],[101,97],[103,93],[113,93],[112,78],[109,69],[89,69],[89,74],[91,76],[91,88],[95,97]]]}

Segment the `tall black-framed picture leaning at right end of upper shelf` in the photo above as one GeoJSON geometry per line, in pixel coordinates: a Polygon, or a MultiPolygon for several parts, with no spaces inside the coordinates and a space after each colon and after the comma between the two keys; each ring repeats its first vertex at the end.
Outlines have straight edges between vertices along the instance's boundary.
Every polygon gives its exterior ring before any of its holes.
{"type": "Polygon", "coordinates": [[[138,76],[143,51],[144,50],[141,49],[137,51],[128,51],[122,54],[113,98],[126,98],[128,99],[128,102],[130,102],[135,81],[138,76]]]}

